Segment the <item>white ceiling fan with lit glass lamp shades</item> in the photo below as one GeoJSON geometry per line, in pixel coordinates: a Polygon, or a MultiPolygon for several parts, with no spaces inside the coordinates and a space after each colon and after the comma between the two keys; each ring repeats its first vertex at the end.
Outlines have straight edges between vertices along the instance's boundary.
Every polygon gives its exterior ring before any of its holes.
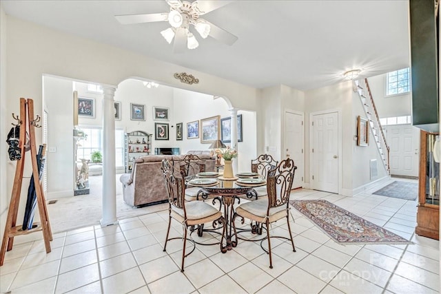
{"type": "Polygon", "coordinates": [[[185,47],[188,49],[198,47],[198,41],[194,37],[194,34],[189,30],[190,25],[193,25],[194,29],[196,29],[203,39],[207,38],[207,36],[211,36],[227,45],[232,45],[238,39],[234,34],[219,28],[217,25],[214,25],[205,19],[199,18],[199,16],[221,8],[232,1],[165,1],[170,6],[170,12],[115,15],[115,17],[122,24],[168,21],[172,27],[163,30],[161,34],[169,44],[172,43],[174,39],[174,52],[183,52],[185,47]]]}

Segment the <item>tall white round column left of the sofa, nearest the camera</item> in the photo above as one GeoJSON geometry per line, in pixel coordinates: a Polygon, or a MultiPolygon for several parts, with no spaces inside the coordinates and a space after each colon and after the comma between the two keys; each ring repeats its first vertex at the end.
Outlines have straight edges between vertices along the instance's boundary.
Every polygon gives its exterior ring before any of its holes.
{"type": "Polygon", "coordinates": [[[115,114],[116,88],[103,85],[103,218],[101,227],[117,224],[116,218],[116,163],[115,114]]]}

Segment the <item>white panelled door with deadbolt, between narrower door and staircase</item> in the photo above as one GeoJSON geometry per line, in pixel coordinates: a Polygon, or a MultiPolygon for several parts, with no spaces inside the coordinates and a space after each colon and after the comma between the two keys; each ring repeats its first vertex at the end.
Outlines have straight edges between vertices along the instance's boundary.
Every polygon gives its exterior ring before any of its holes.
{"type": "Polygon", "coordinates": [[[338,112],[312,116],[313,189],[338,193],[338,112]]]}

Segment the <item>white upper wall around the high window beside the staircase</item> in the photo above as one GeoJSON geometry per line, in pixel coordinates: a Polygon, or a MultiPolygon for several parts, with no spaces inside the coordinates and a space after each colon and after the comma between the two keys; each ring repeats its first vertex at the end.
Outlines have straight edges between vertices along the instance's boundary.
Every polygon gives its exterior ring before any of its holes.
{"type": "Polygon", "coordinates": [[[380,118],[411,115],[411,94],[386,96],[386,74],[368,78],[373,101],[380,118]]]}

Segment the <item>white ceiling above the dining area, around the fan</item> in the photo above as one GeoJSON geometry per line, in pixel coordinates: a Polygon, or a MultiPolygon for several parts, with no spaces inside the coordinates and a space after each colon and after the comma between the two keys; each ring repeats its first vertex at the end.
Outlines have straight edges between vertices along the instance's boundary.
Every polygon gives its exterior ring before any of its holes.
{"type": "Polygon", "coordinates": [[[376,76],[409,66],[408,1],[233,1],[205,14],[238,36],[232,46],[208,37],[174,54],[167,22],[122,25],[116,14],[168,12],[165,1],[1,1],[6,14],[227,78],[252,87],[310,90],[362,69],[376,76]]]}

